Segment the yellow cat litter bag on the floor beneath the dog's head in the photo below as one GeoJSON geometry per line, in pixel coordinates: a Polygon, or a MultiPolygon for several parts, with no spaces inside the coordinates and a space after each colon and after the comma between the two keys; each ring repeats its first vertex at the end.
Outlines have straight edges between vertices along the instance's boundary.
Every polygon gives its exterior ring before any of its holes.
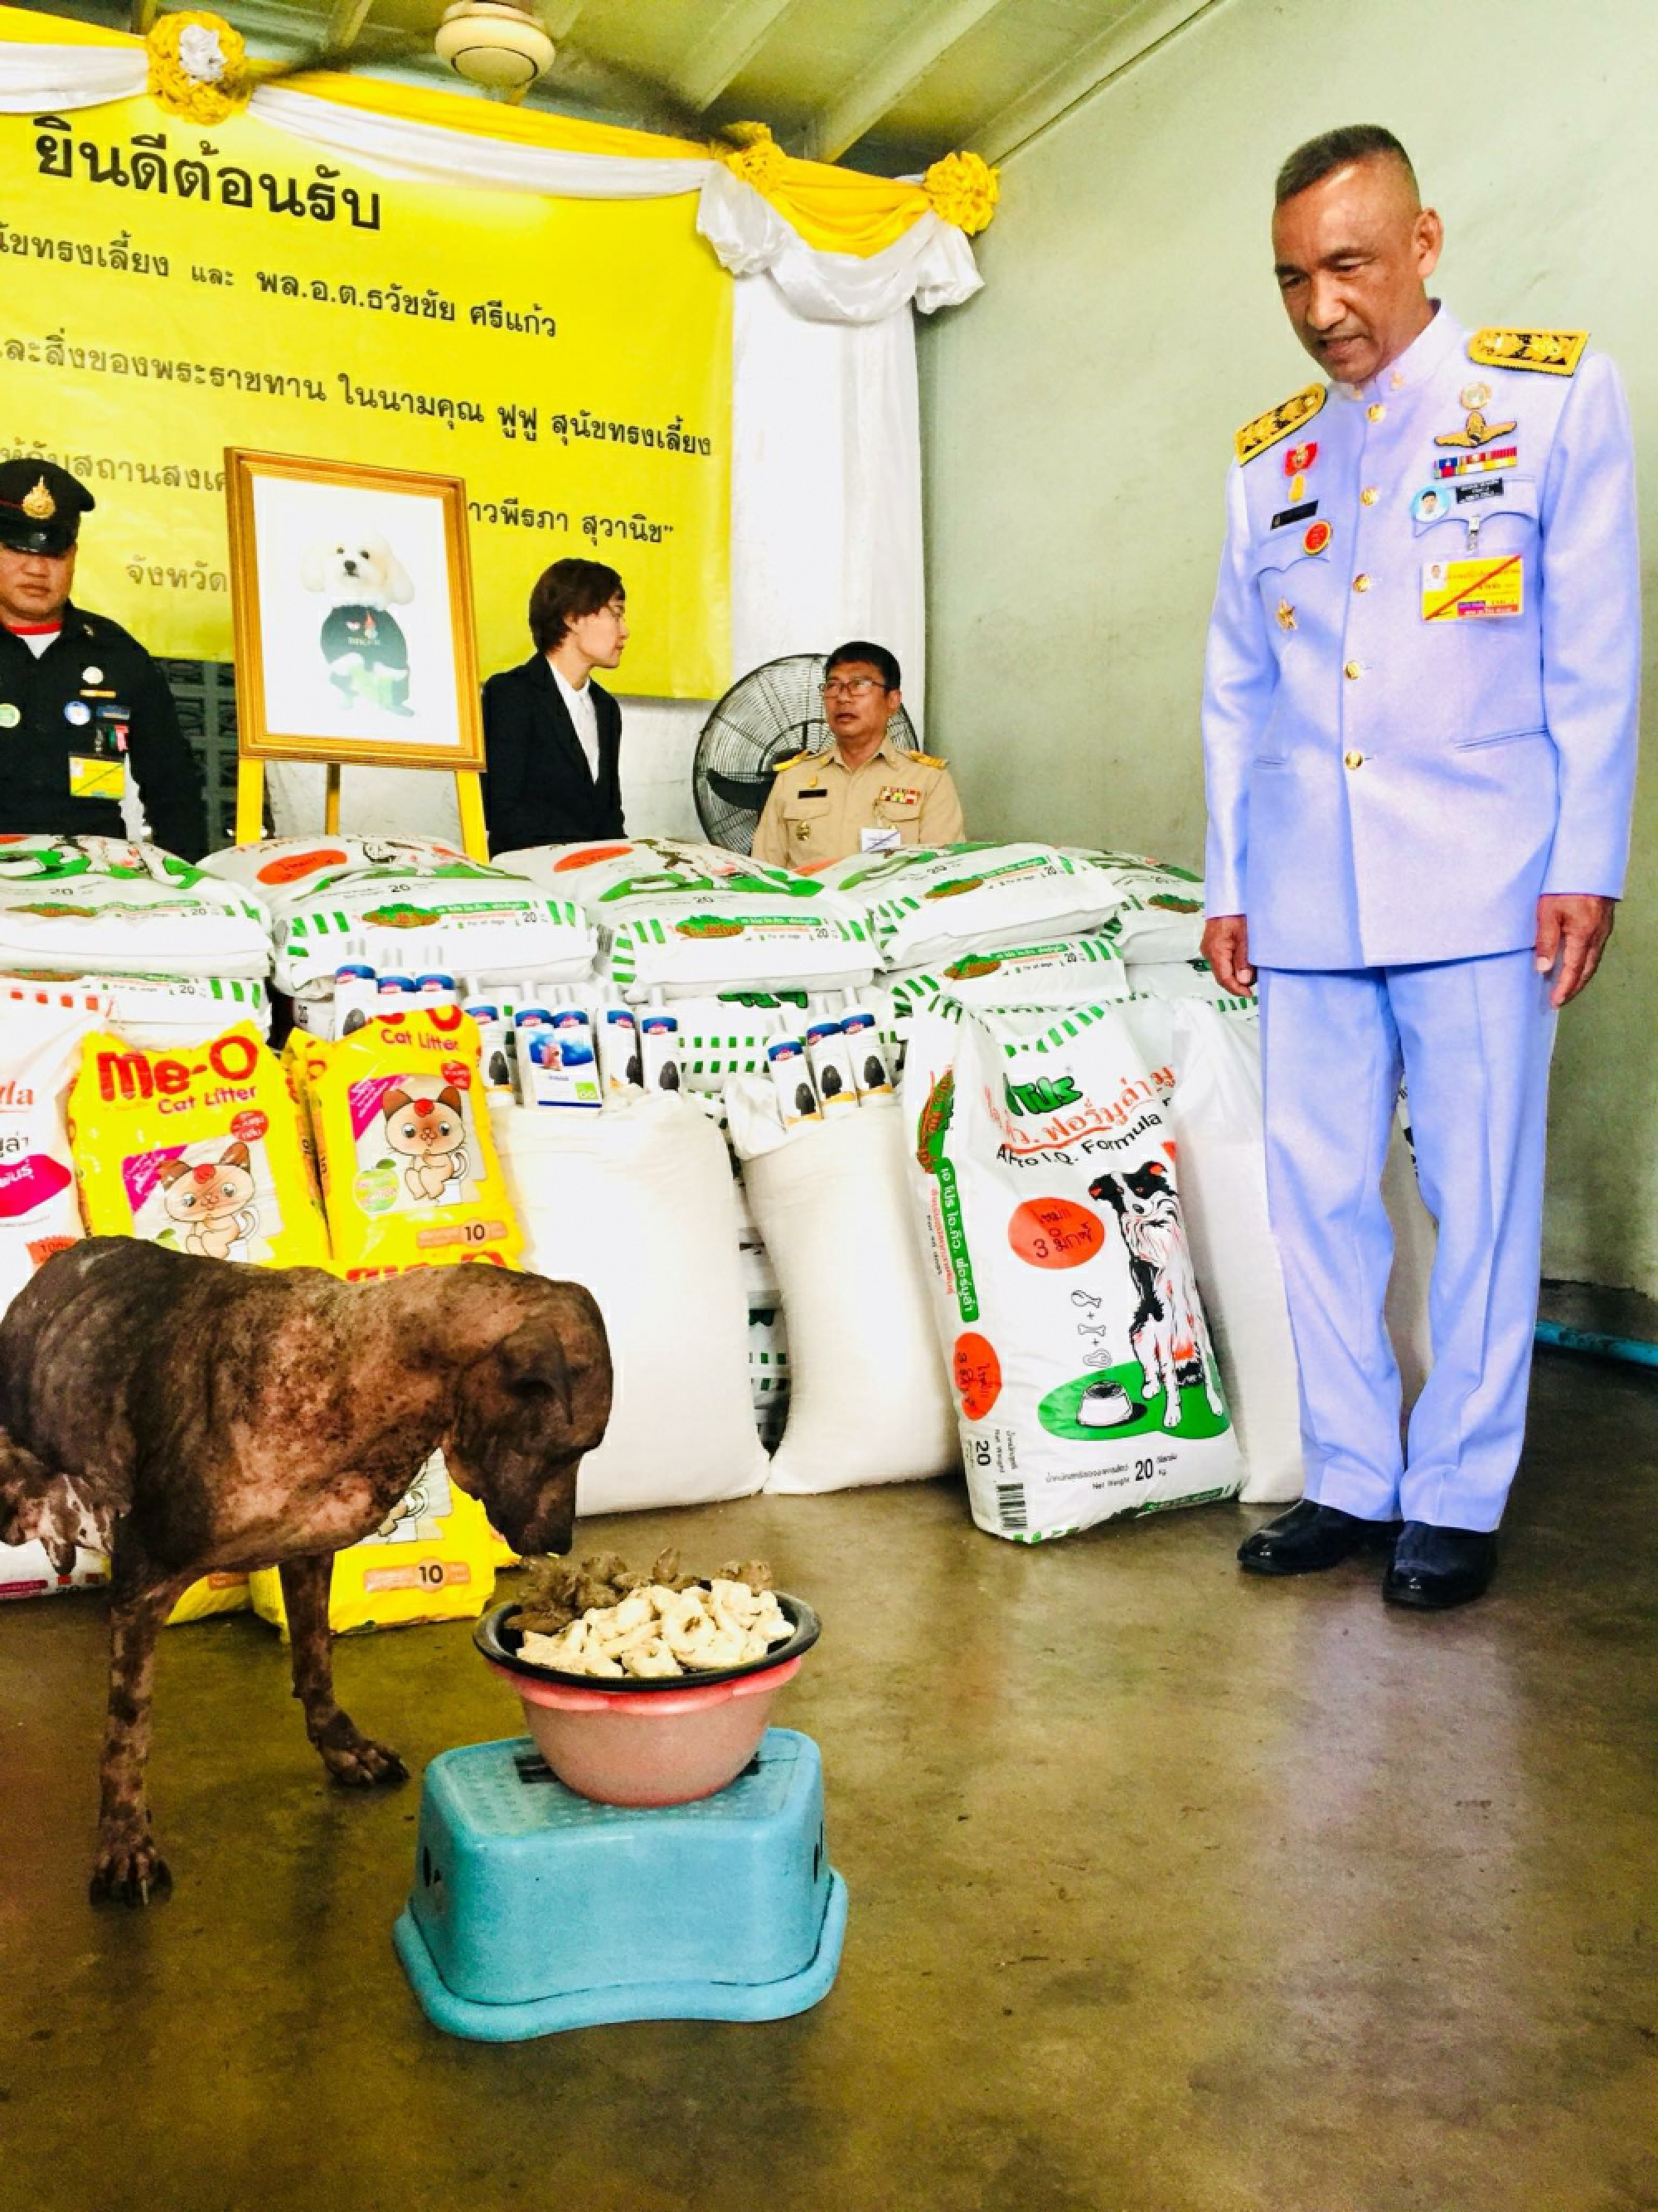
{"type": "MultiPolygon", "coordinates": [[[[416,1621],[475,1621],[495,1595],[489,1515],[458,1489],[433,1453],[374,1535],[334,1553],[327,1626],[409,1628],[416,1621]]],[[[287,1641],[283,1577],[252,1575],[254,1613],[287,1641]]]]}

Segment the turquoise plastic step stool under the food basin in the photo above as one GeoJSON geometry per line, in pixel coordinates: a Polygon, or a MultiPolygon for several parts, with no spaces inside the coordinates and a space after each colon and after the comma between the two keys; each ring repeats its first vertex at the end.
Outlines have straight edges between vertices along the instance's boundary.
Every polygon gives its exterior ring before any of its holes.
{"type": "Polygon", "coordinates": [[[783,2020],[827,1995],[847,1885],[811,1736],[692,1805],[592,1805],[528,1736],[427,1767],[391,1940],[427,2017],[511,2044],[612,2020],[783,2020]]]}

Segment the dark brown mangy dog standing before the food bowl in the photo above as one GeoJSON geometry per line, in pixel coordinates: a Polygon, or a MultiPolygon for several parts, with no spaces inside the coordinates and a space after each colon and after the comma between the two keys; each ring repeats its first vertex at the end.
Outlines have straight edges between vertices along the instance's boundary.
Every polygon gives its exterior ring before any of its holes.
{"type": "Polygon", "coordinates": [[[568,1551],[581,1453],[610,1418],[610,1347],[575,1283],[489,1265],[338,1283],[130,1237],[55,1254],[0,1321],[0,1544],[113,1555],[111,1694],[93,1898],[172,1880],[144,1763],[155,1639],[210,1571],[279,1566],[294,1697],[340,1783],[402,1781],[334,1703],[334,1553],[442,1449],[517,1551],[568,1551]]]}

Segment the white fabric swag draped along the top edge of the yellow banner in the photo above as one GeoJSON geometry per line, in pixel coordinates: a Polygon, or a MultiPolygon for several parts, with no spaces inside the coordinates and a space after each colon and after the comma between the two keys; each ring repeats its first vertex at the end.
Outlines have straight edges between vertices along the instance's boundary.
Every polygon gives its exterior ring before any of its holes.
{"type": "MultiPolygon", "coordinates": [[[[104,46],[0,44],[0,113],[35,115],[130,100],[148,80],[144,53],[104,46]]],[[[970,299],[984,279],[966,234],[931,210],[878,254],[820,252],[752,184],[712,159],[562,153],[444,131],[318,100],[285,84],[254,88],[259,122],[385,177],[418,184],[542,192],[550,199],[672,199],[699,192],[696,228],[734,276],[767,272],[798,316],[880,323],[911,303],[922,314],[970,299]]]]}

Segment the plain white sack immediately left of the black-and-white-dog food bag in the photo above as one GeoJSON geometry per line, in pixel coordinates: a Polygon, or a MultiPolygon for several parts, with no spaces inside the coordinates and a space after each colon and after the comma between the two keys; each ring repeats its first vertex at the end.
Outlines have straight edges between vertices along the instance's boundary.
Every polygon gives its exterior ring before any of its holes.
{"type": "Polygon", "coordinates": [[[730,1084],[725,1108],[789,1329],[789,1418],[767,1491],[948,1473],[955,1418],[893,1099],[871,1097],[787,1137],[763,1077],[730,1084]]]}

